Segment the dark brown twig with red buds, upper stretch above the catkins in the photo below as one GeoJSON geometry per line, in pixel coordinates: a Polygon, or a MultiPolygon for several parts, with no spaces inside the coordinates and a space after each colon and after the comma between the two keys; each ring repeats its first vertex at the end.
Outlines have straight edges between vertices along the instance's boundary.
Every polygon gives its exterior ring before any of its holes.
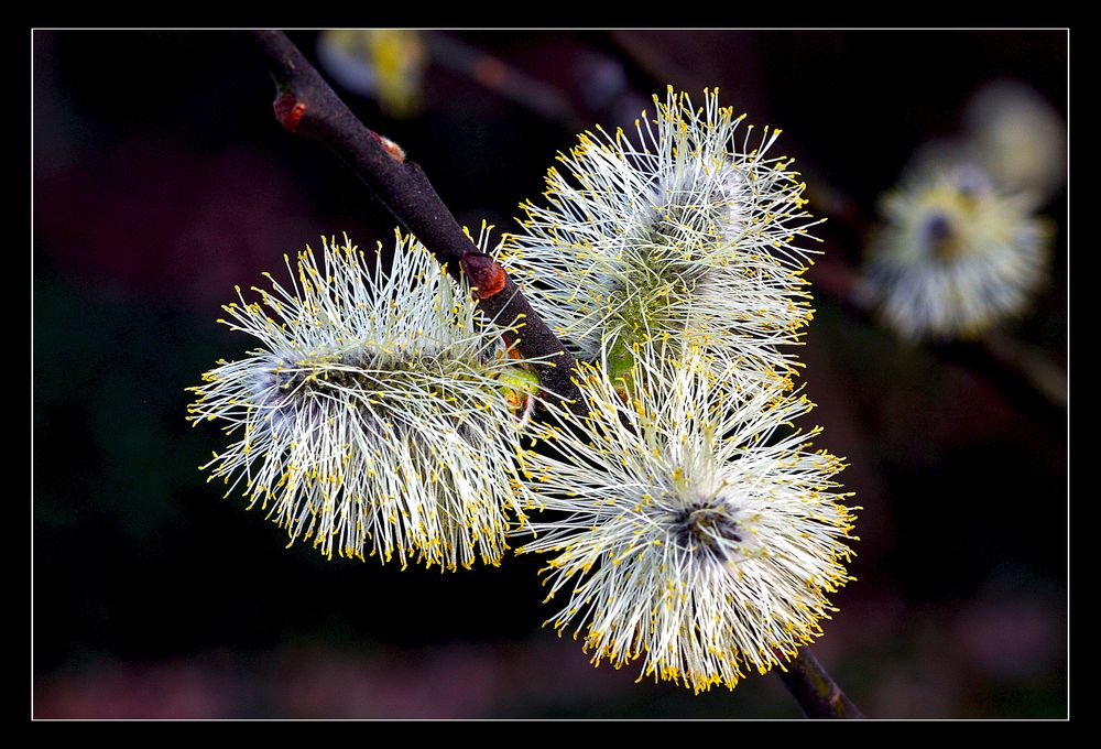
{"type": "Polygon", "coordinates": [[[578,402],[574,357],[532,308],[508,272],[478,250],[421,167],[389,138],[369,130],[281,31],[248,37],[275,79],[275,118],[288,131],[328,146],[410,234],[456,279],[466,276],[481,312],[506,330],[548,397],[578,402]]]}

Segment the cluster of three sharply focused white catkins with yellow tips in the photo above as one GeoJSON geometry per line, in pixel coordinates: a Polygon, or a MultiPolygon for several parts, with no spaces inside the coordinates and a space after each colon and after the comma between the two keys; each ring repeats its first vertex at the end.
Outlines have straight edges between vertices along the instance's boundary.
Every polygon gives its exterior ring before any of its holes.
{"type": "Polygon", "coordinates": [[[820,633],[852,508],[842,460],[794,424],[818,221],[780,131],[717,91],[655,105],[630,137],[580,135],[494,248],[582,359],[579,403],[532,415],[532,362],[505,344],[523,332],[415,241],[383,273],[346,238],[227,307],[260,347],[205,374],[189,417],[232,439],[210,478],[292,540],[456,568],[521,539],[547,555],[548,623],[701,691],[820,633]]]}

